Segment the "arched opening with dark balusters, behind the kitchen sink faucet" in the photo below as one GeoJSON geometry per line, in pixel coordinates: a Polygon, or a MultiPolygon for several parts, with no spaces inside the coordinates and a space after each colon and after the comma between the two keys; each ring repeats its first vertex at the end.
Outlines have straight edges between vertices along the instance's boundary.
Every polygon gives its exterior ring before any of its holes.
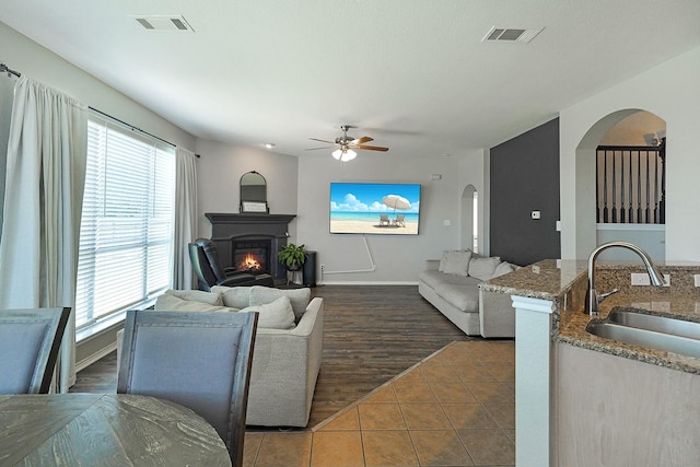
{"type": "MultiPolygon", "coordinates": [[[[646,249],[653,259],[665,259],[665,226],[662,223],[648,222],[646,217],[628,219],[622,214],[602,221],[598,213],[600,206],[598,200],[602,192],[606,191],[609,198],[611,189],[625,187],[630,190],[633,183],[646,185],[634,188],[634,195],[626,195],[628,198],[644,198],[642,189],[655,189],[655,184],[661,183],[644,175],[638,175],[638,171],[652,162],[652,156],[644,156],[643,163],[632,162],[630,151],[619,151],[619,157],[615,161],[603,162],[600,167],[600,148],[649,148],[658,144],[666,135],[666,122],[658,116],[642,109],[623,109],[609,114],[599,119],[582,138],[576,148],[576,252],[578,257],[585,258],[595,246],[612,240],[632,242],[646,249]],[[625,153],[622,155],[622,153],[625,153]],[[608,182],[605,189],[602,188],[602,173],[611,171],[615,175],[612,182],[608,182]],[[629,174],[629,175],[628,175],[629,174]],[[627,180],[626,180],[627,177],[627,180]],[[617,184],[617,187],[615,185],[617,184]],[[627,184],[627,185],[626,185],[627,184]],[[640,195],[637,195],[639,188],[640,195]],[[622,222],[623,221],[623,222],[622,222]]],[[[605,160],[603,160],[605,161],[605,160]]],[[[640,172],[641,173],[641,172],[640,172]]],[[[609,173],[607,174],[609,177],[609,173]]],[[[609,179],[609,178],[608,178],[609,179]]],[[[650,198],[654,198],[651,196],[650,198]]],[[[620,201],[618,201],[620,202],[620,201]]],[[[625,202],[622,200],[621,202],[625,202]]],[[[628,200],[628,202],[630,202],[628,200]]],[[[638,202],[638,201],[634,201],[638,202]]],[[[641,202],[641,201],[639,201],[641,202]]],[[[649,202],[649,201],[648,201],[649,202]]],[[[651,201],[652,203],[654,201],[651,201]]],[[[646,205],[645,205],[646,206],[646,205]]],[[[657,206],[653,206],[656,208],[657,206]]],[[[630,206],[631,208],[631,206],[630,206]]],[[[639,205],[634,206],[640,209],[639,205]]],[[[617,212],[621,212],[619,205],[617,212]]],[[[633,217],[635,218],[635,217],[633,217]]],[[[625,249],[615,248],[604,252],[602,259],[633,259],[633,255],[625,249]]]]}

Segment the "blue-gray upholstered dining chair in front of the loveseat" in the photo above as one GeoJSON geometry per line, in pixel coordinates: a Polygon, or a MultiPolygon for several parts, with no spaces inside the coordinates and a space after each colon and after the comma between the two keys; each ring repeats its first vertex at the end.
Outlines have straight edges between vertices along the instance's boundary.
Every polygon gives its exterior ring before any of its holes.
{"type": "Polygon", "coordinates": [[[192,409],[243,464],[257,313],[128,311],[117,393],[192,409]]]}

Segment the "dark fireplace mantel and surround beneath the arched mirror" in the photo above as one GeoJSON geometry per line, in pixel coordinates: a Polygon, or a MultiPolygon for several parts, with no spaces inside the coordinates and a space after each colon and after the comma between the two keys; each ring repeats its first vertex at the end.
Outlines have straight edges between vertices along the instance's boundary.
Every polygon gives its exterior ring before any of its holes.
{"type": "Polygon", "coordinates": [[[222,267],[233,266],[233,243],[241,240],[271,241],[270,275],[276,282],[287,280],[287,271],[277,261],[277,252],[287,245],[289,223],[295,214],[220,213],[205,214],[211,222],[211,240],[217,245],[222,267]]]}

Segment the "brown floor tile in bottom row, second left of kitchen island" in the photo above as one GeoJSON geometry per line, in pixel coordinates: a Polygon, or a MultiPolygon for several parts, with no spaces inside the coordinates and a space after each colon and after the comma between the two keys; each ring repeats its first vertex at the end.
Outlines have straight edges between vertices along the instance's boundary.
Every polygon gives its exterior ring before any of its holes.
{"type": "Polygon", "coordinates": [[[411,431],[421,466],[472,466],[474,462],[454,430],[411,431]]]}

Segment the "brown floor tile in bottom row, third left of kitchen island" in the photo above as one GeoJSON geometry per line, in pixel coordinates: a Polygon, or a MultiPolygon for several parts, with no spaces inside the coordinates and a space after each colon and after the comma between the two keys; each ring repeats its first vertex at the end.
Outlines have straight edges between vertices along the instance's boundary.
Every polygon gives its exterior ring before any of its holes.
{"type": "Polygon", "coordinates": [[[419,465],[408,431],[363,431],[362,445],[368,467],[419,465]]]}

